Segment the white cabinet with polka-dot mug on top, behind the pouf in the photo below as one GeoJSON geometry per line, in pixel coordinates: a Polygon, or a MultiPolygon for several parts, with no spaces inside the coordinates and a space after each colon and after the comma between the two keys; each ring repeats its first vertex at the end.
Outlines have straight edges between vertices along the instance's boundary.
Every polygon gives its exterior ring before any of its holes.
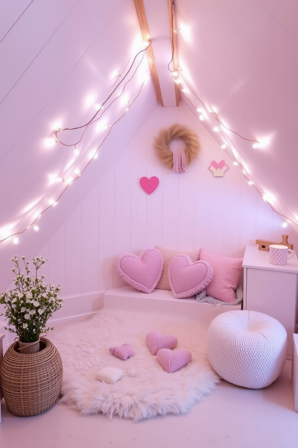
{"type": "Polygon", "coordinates": [[[292,359],[296,327],[298,258],[286,265],[269,263],[269,252],[247,246],[243,258],[243,310],[255,310],[279,320],[288,333],[287,358],[292,359]]]}

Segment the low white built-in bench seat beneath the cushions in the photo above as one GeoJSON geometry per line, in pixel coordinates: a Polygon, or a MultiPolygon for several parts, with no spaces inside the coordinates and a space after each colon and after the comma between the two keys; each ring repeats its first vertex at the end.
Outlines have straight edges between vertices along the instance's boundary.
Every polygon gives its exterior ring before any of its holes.
{"type": "Polygon", "coordinates": [[[216,306],[213,303],[201,303],[196,297],[175,299],[172,291],[154,289],[150,294],[142,293],[131,286],[108,289],[103,295],[104,308],[120,308],[135,311],[157,311],[164,314],[184,316],[209,324],[215,316],[225,311],[241,310],[241,303],[216,306]]]}

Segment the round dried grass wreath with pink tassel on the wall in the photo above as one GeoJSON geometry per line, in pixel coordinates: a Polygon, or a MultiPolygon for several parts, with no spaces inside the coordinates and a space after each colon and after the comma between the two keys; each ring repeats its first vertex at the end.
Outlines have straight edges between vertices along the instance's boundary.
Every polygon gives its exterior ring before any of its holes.
{"type": "Polygon", "coordinates": [[[201,149],[197,135],[186,126],[175,123],[167,129],[161,129],[154,142],[155,154],[161,163],[174,172],[184,172],[201,149]],[[185,151],[171,151],[169,144],[174,138],[185,142],[185,151]]]}

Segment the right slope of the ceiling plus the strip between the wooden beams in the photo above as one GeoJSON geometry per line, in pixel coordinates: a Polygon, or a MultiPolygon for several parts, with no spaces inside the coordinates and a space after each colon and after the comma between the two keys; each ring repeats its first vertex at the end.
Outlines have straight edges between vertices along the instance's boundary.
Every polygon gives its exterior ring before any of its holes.
{"type": "MultiPolygon", "coordinates": [[[[165,2],[163,2],[163,5],[165,2]]],[[[274,210],[297,232],[298,2],[289,0],[175,0],[180,99],[274,210]],[[185,92],[183,92],[185,90],[185,92]],[[197,108],[200,112],[197,112],[197,108]],[[216,111],[216,113],[214,113],[216,111]],[[214,132],[214,128],[219,131],[214,132]],[[257,147],[253,147],[257,146],[257,147]]],[[[169,21],[158,2],[146,0],[155,59],[164,51],[169,21]],[[156,11],[160,13],[156,14],[156,11]]],[[[170,9],[170,8],[168,8],[170,9]]],[[[175,62],[175,60],[174,60],[175,62]]],[[[168,78],[172,74],[168,73],[168,78]]],[[[164,85],[164,84],[163,84],[164,85]]],[[[174,101],[172,87],[162,90],[174,101]]]]}

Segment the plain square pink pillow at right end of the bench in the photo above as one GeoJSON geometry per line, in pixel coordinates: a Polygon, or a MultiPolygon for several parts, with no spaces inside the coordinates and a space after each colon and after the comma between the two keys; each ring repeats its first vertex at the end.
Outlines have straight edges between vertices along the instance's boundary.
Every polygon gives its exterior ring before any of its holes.
{"type": "Polygon", "coordinates": [[[222,302],[235,302],[243,258],[222,257],[201,249],[200,260],[207,261],[213,267],[213,279],[206,286],[206,295],[222,302]]]}

